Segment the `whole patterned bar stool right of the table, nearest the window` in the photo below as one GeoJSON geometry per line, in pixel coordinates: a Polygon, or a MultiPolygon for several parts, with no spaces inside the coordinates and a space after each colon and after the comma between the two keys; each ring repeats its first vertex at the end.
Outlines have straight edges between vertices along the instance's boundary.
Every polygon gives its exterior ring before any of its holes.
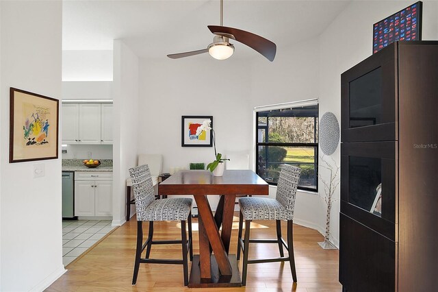
{"type": "Polygon", "coordinates": [[[296,188],[300,180],[301,169],[291,165],[282,165],[279,182],[276,189],[276,198],[242,197],[239,199],[240,219],[239,235],[237,238],[237,260],[240,259],[240,250],[244,253],[242,268],[242,285],[246,285],[248,264],[289,261],[292,270],[292,279],[296,282],[294,259],[293,219],[296,188]],[[253,220],[275,220],[276,239],[250,239],[250,225],[253,220]],[[281,236],[281,220],[287,220],[287,244],[281,236]],[[242,239],[242,227],[245,221],[245,236],[242,239]],[[248,260],[250,243],[276,243],[279,245],[279,258],[263,258],[248,260]],[[283,246],[289,252],[284,256],[283,246]]]}

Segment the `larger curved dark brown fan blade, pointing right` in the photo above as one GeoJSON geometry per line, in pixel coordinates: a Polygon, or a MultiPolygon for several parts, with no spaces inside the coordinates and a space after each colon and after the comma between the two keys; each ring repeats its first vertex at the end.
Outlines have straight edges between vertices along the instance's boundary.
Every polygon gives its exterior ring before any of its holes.
{"type": "Polygon", "coordinates": [[[213,34],[217,34],[219,36],[222,36],[223,34],[233,35],[237,42],[242,42],[242,44],[255,49],[271,62],[275,58],[276,45],[274,44],[274,42],[271,42],[266,38],[233,27],[208,25],[208,28],[213,34]]]}

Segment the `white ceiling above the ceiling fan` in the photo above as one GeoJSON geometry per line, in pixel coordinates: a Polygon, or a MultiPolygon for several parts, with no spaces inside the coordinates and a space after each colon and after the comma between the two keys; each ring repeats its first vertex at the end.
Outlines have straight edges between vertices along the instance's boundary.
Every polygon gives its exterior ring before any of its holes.
{"type": "MultiPolygon", "coordinates": [[[[276,43],[278,50],[321,34],[350,1],[224,0],[224,26],[276,43]]],[[[220,24],[220,1],[64,1],[64,50],[112,50],[114,39],[140,57],[205,49],[220,24]]],[[[257,56],[235,44],[233,58],[257,56]]]]}

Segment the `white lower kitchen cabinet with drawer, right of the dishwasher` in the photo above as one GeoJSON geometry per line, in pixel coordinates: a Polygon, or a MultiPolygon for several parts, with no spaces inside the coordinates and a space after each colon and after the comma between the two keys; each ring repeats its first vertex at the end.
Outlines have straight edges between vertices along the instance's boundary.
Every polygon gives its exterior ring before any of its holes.
{"type": "Polygon", "coordinates": [[[112,173],[75,173],[75,216],[112,216],[112,173]]]}

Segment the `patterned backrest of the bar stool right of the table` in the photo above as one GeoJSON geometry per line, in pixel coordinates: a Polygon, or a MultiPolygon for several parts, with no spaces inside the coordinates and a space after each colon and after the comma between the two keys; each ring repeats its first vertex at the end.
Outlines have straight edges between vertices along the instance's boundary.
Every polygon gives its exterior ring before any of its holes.
{"type": "Polygon", "coordinates": [[[281,165],[279,182],[276,185],[276,200],[285,208],[287,217],[294,217],[296,188],[300,181],[301,169],[292,165],[281,165]]]}

